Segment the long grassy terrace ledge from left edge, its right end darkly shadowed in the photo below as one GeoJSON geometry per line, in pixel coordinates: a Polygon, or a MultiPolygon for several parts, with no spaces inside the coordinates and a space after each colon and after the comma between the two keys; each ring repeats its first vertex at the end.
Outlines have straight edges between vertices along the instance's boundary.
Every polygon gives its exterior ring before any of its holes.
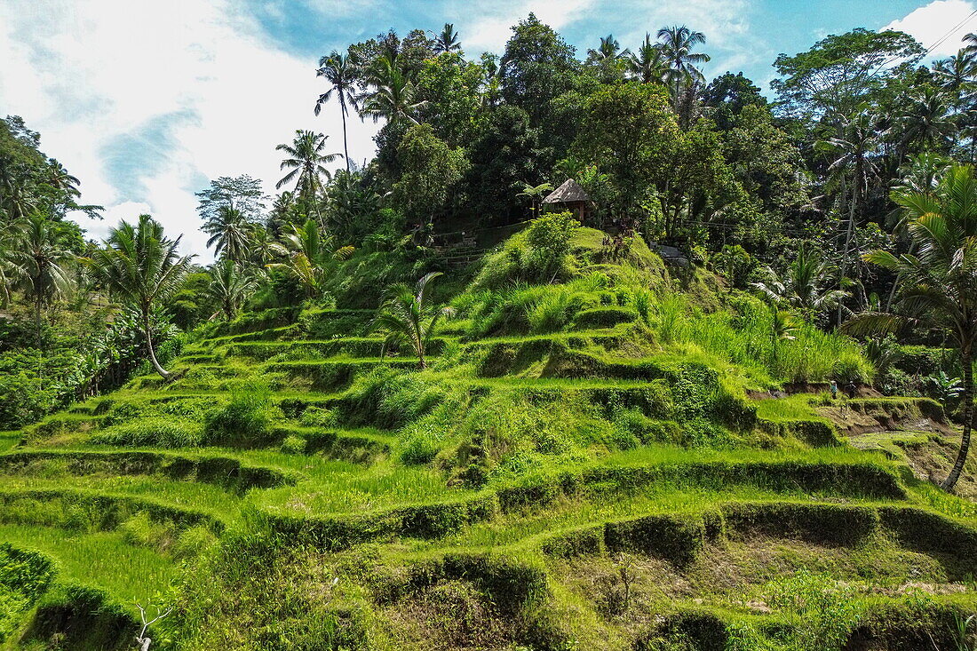
{"type": "Polygon", "coordinates": [[[171,480],[215,484],[242,493],[295,484],[299,475],[241,462],[233,456],[148,450],[16,450],[0,455],[0,474],[162,475],[171,480]]]}

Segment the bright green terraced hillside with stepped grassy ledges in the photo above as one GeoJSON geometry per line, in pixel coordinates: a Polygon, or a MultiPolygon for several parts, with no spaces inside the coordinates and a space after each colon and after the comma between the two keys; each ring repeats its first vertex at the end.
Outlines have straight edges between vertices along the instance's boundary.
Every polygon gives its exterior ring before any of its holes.
{"type": "Polygon", "coordinates": [[[649,308],[592,262],[554,327],[476,282],[425,370],[372,311],[272,310],[5,433],[6,644],[132,648],[139,602],[152,648],[956,649],[977,509],[901,454],[940,406],[774,397],[696,338],[722,292],[665,336],[710,279],[642,252],[649,308]]]}

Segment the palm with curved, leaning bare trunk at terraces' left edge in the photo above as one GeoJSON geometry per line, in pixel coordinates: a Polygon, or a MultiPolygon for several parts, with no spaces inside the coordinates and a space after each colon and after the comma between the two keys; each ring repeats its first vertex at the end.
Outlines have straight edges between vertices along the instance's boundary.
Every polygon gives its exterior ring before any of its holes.
{"type": "Polygon", "coordinates": [[[88,260],[95,277],[106,288],[139,309],[149,362],[163,379],[169,379],[172,373],[156,360],[149,315],[179,289],[190,272],[193,256],[180,256],[179,245],[180,238],[164,235],[162,224],[149,215],[140,215],[135,225],[122,221],[112,229],[105,248],[96,249],[88,260]]]}

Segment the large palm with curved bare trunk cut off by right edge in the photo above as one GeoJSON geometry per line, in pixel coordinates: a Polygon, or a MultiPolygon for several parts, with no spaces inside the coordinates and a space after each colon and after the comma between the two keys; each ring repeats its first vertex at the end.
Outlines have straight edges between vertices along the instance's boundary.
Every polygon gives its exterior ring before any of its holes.
{"type": "Polygon", "coordinates": [[[930,325],[956,345],[963,370],[963,432],[953,469],[941,484],[956,486],[970,448],[973,420],[973,357],[977,342],[977,179],[970,165],[954,165],[931,192],[894,192],[907,212],[915,255],[872,251],[866,261],[901,279],[891,313],[869,312],[844,325],[855,333],[893,331],[900,325],[930,325]]]}

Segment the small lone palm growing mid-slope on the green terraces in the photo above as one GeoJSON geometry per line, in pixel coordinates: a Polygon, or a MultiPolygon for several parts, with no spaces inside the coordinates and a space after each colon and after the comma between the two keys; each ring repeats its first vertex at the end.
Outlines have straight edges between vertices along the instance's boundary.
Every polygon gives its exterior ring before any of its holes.
{"type": "Polygon", "coordinates": [[[432,272],[417,281],[413,289],[405,282],[399,282],[387,291],[387,298],[373,320],[373,329],[387,334],[380,350],[381,359],[392,347],[408,345],[417,356],[417,366],[427,368],[428,344],[438,322],[454,315],[450,307],[428,305],[427,285],[441,275],[441,272],[432,272]]]}

